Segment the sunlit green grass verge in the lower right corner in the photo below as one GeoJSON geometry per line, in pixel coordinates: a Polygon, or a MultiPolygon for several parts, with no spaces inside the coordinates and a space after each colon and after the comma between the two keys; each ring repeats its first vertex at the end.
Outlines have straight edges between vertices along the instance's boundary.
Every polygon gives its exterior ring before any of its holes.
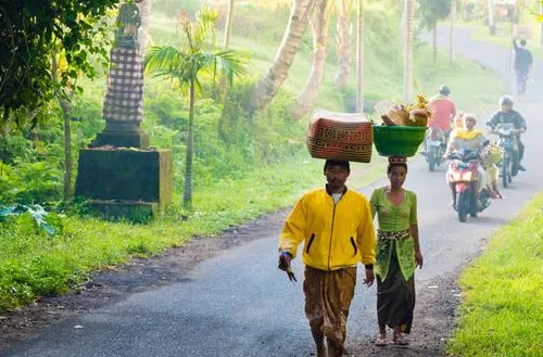
{"type": "Polygon", "coordinates": [[[456,356],[543,356],[543,194],[462,275],[456,356]]]}

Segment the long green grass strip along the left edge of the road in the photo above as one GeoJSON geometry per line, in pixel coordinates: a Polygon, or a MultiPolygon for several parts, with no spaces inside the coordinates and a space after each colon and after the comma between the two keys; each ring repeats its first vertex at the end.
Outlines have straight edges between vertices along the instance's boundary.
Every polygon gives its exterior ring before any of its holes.
{"type": "MultiPolygon", "coordinates": [[[[172,208],[150,225],[63,217],[49,237],[30,217],[0,224],[0,311],[39,296],[77,289],[93,271],[180,246],[194,235],[214,237],[227,227],[291,205],[304,191],[324,183],[323,163],[303,152],[288,163],[257,167],[238,180],[202,188],[194,212],[172,208]]],[[[350,186],[382,176],[383,160],[353,165],[350,186]]]]}

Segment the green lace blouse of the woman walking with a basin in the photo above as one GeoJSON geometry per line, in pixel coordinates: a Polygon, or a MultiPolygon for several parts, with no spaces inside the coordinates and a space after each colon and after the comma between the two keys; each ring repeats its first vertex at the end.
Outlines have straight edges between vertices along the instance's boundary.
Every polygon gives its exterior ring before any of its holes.
{"type": "MultiPolygon", "coordinates": [[[[376,189],[371,193],[369,200],[371,215],[375,217],[377,214],[379,230],[387,232],[405,231],[411,226],[417,225],[417,195],[408,190],[404,190],[404,192],[405,199],[399,205],[390,202],[384,187],[376,189]]],[[[415,273],[415,243],[413,237],[409,234],[406,239],[378,240],[375,269],[383,281],[389,273],[392,252],[396,252],[402,276],[405,280],[408,280],[415,273]]]]}

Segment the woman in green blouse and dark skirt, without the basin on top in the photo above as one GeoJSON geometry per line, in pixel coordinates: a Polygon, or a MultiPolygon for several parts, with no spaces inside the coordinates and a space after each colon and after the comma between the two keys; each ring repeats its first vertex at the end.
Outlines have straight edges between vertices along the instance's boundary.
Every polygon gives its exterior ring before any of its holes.
{"type": "Polygon", "coordinates": [[[418,241],[417,196],[403,189],[407,176],[405,157],[390,157],[387,174],[390,186],[371,194],[371,214],[377,214],[377,317],[376,344],[387,344],[387,326],[393,329],[393,343],[407,345],[415,308],[415,268],[422,268],[418,241]]]}

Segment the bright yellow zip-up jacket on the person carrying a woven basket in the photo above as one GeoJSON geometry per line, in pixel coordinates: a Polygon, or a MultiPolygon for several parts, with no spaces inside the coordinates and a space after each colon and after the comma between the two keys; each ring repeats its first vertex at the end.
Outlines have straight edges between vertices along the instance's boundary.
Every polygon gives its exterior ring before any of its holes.
{"type": "Polygon", "coordinates": [[[302,240],[302,262],[316,269],[375,264],[376,234],[367,199],[346,190],[334,204],[324,188],[305,193],[285,222],[279,251],[295,257],[302,240]]]}

